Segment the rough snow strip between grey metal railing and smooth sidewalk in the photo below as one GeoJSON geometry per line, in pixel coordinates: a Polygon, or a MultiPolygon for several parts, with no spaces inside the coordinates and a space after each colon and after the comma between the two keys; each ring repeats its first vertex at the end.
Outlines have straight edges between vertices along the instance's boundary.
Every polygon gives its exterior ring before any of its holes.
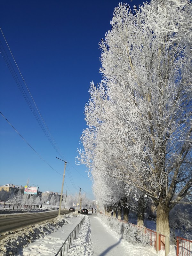
{"type": "Polygon", "coordinates": [[[79,236],[76,240],[74,240],[74,243],[75,244],[68,250],[67,256],[93,256],[91,225],[90,219],[87,216],[85,216],[85,220],[80,230],[79,236]]]}

